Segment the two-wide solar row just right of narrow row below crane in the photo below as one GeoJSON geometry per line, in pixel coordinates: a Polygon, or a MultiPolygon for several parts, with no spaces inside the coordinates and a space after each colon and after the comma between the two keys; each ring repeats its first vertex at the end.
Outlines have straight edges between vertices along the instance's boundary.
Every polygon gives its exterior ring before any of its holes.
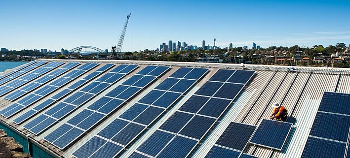
{"type": "MultiPolygon", "coordinates": [[[[137,65],[119,65],[121,67],[133,67],[136,68],[137,65]]],[[[120,67],[116,67],[115,69],[120,69],[120,67]]],[[[109,72],[103,76],[101,76],[100,78],[103,78],[104,76],[113,73],[113,74],[119,74],[116,72],[109,72]]],[[[121,77],[123,77],[125,74],[123,74],[122,76],[118,75],[119,78],[115,78],[115,82],[117,82],[121,77]]],[[[92,82],[90,84],[88,84],[86,87],[90,87],[90,85],[94,85],[95,83],[92,82]]],[[[111,83],[112,84],[112,83],[111,83]]],[[[67,116],[68,114],[70,114],[70,112],[72,112],[73,110],[75,110],[76,108],[78,108],[79,106],[81,106],[82,104],[84,104],[85,102],[87,102],[88,100],[92,99],[93,96],[95,96],[96,94],[102,92],[105,88],[107,88],[108,86],[110,86],[111,84],[107,84],[105,83],[103,86],[100,86],[102,88],[96,88],[99,91],[96,91],[95,93],[85,93],[82,90],[84,90],[84,88],[76,93],[74,93],[73,95],[67,97],[65,100],[63,100],[62,102],[60,102],[59,104],[53,106],[51,109],[49,109],[48,111],[46,111],[44,114],[41,115],[46,115],[48,116],[48,118],[45,117],[37,117],[34,120],[32,120],[30,123],[26,124],[24,127],[28,130],[30,130],[31,132],[33,132],[34,134],[39,134],[40,132],[42,132],[43,130],[45,130],[48,126],[45,125],[53,125],[54,123],[56,123],[58,120],[62,119],[64,116],[67,116]],[[51,119],[49,117],[53,117],[55,119],[51,119]],[[33,123],[33,124],[31,124],[33,123]]],[[[63,94],[62,94],[63,95],[63,94]]]]}

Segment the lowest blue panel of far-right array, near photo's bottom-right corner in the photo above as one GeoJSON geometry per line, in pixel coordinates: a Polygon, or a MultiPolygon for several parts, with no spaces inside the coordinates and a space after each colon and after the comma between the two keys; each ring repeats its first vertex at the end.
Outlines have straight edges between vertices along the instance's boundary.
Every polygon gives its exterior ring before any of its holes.
{"type": "Polygon", "coordinates": [[[344,158],[346,146],[346,143],[309,137],[301,158],[344,158]]]}

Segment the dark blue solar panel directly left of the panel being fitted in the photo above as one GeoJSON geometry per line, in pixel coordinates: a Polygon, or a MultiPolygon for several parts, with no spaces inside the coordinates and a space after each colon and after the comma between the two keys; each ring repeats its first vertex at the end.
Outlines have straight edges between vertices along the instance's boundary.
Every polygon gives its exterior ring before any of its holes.
{"type": "Polygon", "coordinates": [[[255,128],[256,126],[232,122],[215,144],[243,151],[255,128]]]}

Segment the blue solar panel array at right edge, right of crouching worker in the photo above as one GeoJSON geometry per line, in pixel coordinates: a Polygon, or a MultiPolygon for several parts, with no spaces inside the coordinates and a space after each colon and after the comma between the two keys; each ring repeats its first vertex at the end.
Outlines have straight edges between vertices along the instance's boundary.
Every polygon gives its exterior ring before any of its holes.
{"type": "Polygon", "coordinates": [[[302,158],[349,158],[349,129],[350,94],[324,92],[302,158]]]}

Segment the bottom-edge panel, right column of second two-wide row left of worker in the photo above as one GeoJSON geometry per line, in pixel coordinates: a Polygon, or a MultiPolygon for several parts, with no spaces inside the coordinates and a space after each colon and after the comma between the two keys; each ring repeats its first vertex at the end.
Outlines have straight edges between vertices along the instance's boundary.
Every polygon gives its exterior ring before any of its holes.
{"type": "Polygon", "coordinates": [[[99,149],[95,154],[93,154],[90,158],[114,158],[117,153],[122,149],[123,147],[107,142],[104,146],[102,146],[101,149],[99,149]]]}

